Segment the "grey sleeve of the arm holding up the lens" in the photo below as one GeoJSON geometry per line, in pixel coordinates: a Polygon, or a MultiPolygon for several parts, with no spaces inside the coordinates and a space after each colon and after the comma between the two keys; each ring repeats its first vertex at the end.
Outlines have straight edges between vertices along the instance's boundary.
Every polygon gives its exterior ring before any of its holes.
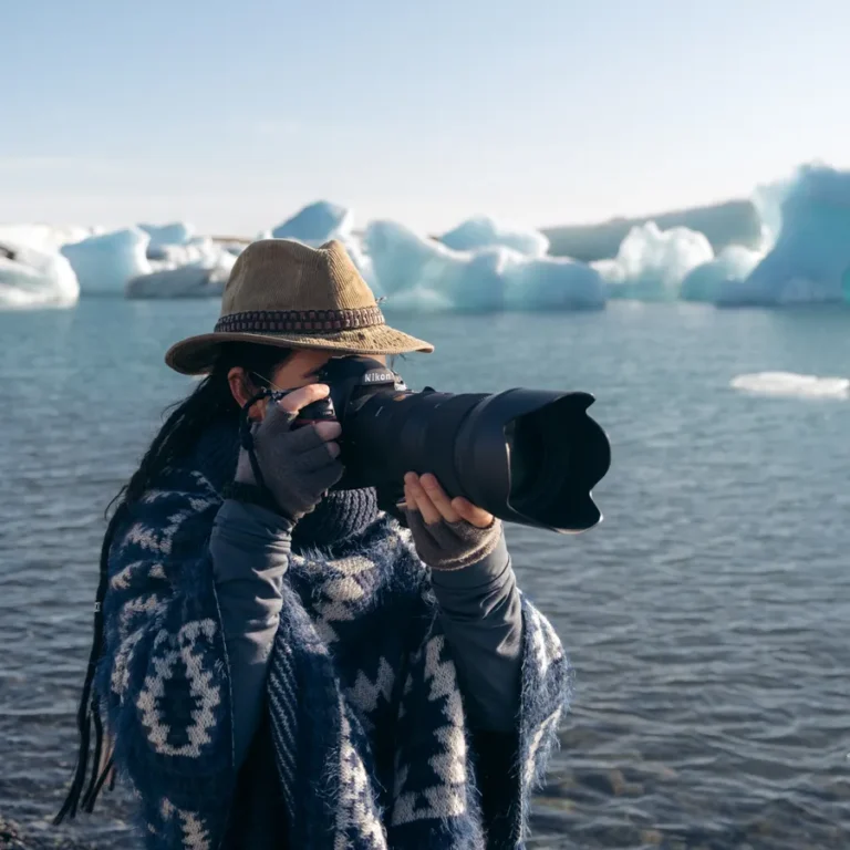
{"type": "Polygon", "coordinates": [[[459,570],[432,570],[431,581],[470,725],[514,730],[521,687],[522,609],[505,536],[484,560],[459,570]]]}

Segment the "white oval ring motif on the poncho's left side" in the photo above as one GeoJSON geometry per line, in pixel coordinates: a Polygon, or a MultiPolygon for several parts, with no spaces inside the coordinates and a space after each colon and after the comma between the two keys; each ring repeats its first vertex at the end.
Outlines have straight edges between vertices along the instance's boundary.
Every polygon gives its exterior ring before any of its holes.
{"type": "Polygon", "coordinates": [[[154,639],[154,649],[151,657],[153,673],[145,677],[145,684],[136,701],[136,706],[142,712],[142,723],[147,727],[147,739],[153,744],[157,753],[167,756],[200,756],[204,744],[210,743],[209,729],[216,725],[215,708],[221,702],[221,693],[218,685],[212,682],[212,672],[203,668],[203,655],[196,654],[195,649],[198,639],[204,636],[211,641],[218,629],[215,620],[196,620],[184,625],[177,634],[177,646],[167,649],[162,654],[157,650],[163,644],[172,641],[173,635],[166,630],[160,630],[154,639]],[[174,667],[180,659],[186,666],[189,692],[197,701],[191,711],[191,724],[185,729],[188,743],[175,747],[168,744],[168,735],[172,729],[166,724],[157,707],[157,702],[165,695],[165,683],[174,676],[174,667]]]}

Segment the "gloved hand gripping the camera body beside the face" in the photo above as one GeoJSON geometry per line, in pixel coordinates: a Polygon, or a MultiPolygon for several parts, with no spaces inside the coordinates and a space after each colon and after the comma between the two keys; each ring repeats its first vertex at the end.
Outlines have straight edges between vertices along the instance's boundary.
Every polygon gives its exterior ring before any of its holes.
{"type": "MultiPolygon", "coordinates": [[[[292,429],[298,413],[308,404],[326,398],[325,384],[308,384],[279,402],[266,405],[262,422],[253,426],[253,450],[266,487],[281,514],[298,520],[309,514],[326,490],[342,477],[338,422],[320,422],[292,429]]],[[[248,452],[239,452],[238,484],[258,484],[248,452]]]]}

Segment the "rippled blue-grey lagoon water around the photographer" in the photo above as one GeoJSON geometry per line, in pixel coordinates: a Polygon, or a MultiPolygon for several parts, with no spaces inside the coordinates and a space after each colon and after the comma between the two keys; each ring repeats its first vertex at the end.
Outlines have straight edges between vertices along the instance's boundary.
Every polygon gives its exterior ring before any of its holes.
{"type": "MultiPolygon", "coordinates": [[[[0,314],[0,812],[59,807],[102,511],[191,383],[166,346],[212,303],[0,314]]],[[[401,321],[401,320],[400,320],[401,321]]],[[[850,847],[850,403],[751,397],[737,374],[850,374],[850,312],[614,304],[411,318],[413,386],[595,393],[602,526],[511,528],[520,584],[578,672],[535,848],[850,847]]],[[[126,804],[63,830],[132,847],[126,804]]]]}

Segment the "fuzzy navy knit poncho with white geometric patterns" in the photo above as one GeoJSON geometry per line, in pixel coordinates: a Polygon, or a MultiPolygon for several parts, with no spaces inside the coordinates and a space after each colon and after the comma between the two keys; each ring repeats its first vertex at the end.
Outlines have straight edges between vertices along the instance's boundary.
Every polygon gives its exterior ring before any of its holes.
{"type": "MultiPolygon", "coordinates": [[[[232,822],[241,775],[207,547],[221,496],[197,467],[163,474],[108,554],[95,692],[151,850],[214,850],[249,826],[232,822]]],[[[522,597],[521,708],[509,746],[494,746],[466,722],[437,613],[408,532],[385,516],[290,557],[266,701],[274,847],[524,847],[567,705],[563,649],[522,597]],[[498,839],[484,816],[497,798],[498,839]]]]}

